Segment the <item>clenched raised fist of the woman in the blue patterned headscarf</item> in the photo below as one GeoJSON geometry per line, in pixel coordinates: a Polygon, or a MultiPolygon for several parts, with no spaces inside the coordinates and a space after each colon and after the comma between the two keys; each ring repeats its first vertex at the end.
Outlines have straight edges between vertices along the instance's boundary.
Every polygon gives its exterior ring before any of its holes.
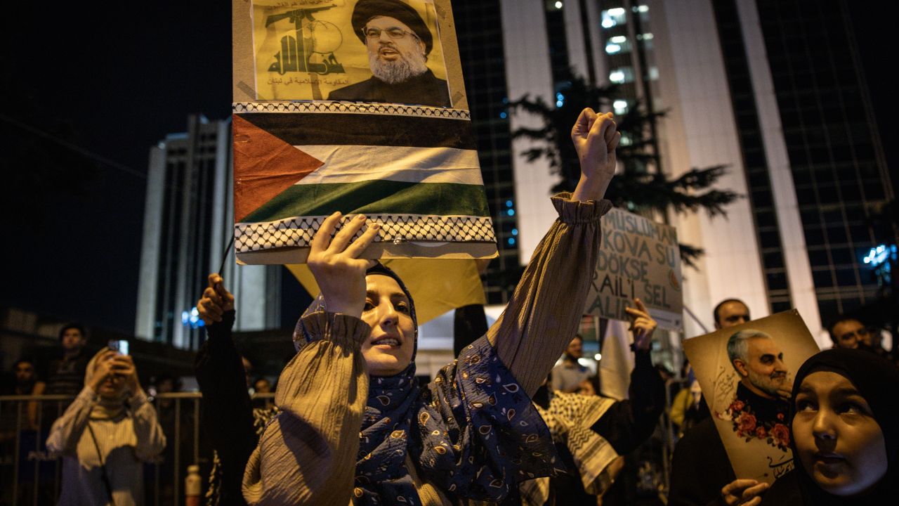
{"type": "Polygon", "coordinates": [[[597,114],[590,108],[584,109],[571,129],[571,140],[581,161],[581,179],[574,189],[572,200],[600,200],[606,194],[618,165],[615,149],[618,148],[621,133],[613,114],[597,114]]]}

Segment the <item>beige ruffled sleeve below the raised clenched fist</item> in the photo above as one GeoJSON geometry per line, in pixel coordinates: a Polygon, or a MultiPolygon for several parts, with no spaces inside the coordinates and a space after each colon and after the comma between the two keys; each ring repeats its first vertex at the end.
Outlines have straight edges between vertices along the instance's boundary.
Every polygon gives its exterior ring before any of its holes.
{"type": "Polygon", "coordinates": [[[612,205],[553,197],[559,217],[540,241],[512,300],[487,331],[528,395],[537,391],[577,333],[600,248],[600,219],[612,205]]]}

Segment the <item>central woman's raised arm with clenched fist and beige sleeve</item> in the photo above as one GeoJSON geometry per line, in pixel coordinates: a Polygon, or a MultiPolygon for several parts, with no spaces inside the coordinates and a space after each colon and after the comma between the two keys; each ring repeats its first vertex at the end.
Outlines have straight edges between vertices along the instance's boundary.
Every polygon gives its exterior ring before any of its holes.
{"type": "Polygon", "coordinates": [[[487,339],[528,395],[537,391],[574,337],[600,248],[601,200],[615,174],[621,134],[611,113],[584,109],[572,129],[581,163],[574,194],[553,197],[559,217],[525,268],[512,300],[487,339]]]}

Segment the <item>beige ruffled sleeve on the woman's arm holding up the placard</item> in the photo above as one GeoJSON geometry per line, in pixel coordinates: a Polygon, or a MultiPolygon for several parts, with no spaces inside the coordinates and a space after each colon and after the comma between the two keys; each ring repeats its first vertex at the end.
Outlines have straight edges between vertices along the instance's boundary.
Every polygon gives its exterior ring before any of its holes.
{"type": "Polygon", "coordinates": [[[263,431],[244,475],[249,504],[350,503],[369,378],[360,346],[369,325],[333,312],[302,319],[312,341],[284,368],[281,412],[263,431]]]}

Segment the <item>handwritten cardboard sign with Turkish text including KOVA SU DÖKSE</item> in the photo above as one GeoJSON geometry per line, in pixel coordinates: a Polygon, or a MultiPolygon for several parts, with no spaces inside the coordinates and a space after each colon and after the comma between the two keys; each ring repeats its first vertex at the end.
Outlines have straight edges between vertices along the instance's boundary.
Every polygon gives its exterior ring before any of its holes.
{"type": "Polygon", "coordinates": [[[629,321],[625,308],[645,303],[659,327],[681,330],[681,252],[677,230],[620,209],[602,217],[602,242],[586,312],[629,321]]]}

